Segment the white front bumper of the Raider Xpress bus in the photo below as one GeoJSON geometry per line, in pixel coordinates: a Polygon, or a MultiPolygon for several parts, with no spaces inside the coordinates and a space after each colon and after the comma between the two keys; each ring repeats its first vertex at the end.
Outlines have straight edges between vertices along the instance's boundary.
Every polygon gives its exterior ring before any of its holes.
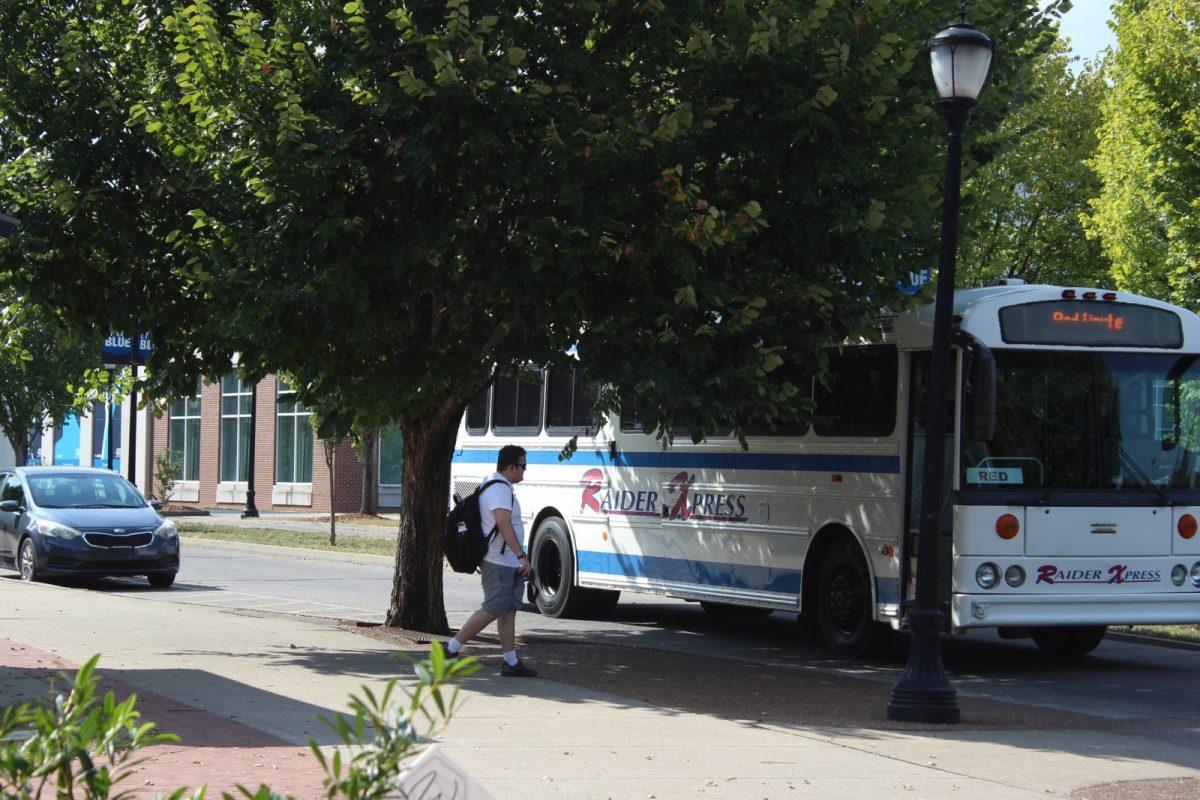
{"type": "Polygon", "coordinates": [[[955,594],[950,626],[1189,625],[1200,622],[1200,591],[1146,594],[955,594]]]}

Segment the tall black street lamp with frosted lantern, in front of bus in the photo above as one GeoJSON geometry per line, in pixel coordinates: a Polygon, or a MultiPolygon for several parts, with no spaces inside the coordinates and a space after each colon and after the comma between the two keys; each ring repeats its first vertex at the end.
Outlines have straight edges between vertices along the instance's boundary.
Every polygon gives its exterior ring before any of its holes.
{"type": "Polygon", "coordinates": [[[925,422],[924,482],[917,540],[917,603],[908,613],[912,646],[904,675],[892,690],[888,718],[906,722],[958,722],[959,700],[942,667],[938,608],[938,540],[944,469],[946,392],[950,366],[950,318],[954,311],[954,259],[959,242],[959,185],[962,178],[962,132],[991,70],[994,46],[966,22],[965,13],[929,41],[937,104],[949,122],[946,196],[942,204],[942,249],[937,261],[934,345],[925,422]]]}

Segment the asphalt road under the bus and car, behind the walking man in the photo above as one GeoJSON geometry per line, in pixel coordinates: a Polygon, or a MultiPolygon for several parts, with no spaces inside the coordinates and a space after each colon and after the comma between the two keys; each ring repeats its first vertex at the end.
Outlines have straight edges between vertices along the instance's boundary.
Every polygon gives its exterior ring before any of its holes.
{"type": "MultiPolygon", "coordinates": [[[[7,576],[13,577],[13,576],[7,576]]],[[[185,547],[175,587],[152,591],[144,581],[109,579],[79,591],[114,591],[148,602],[203,603],[238,609],[382,621],[391,591],[391,566],[378,559],[359,563],[289,558],[227,549],[185,547]]],[[[479,602],[474,576],[445,573],[445,604],[451,625],[479,602]]],[[[905,643],[889,658],[842,661],[802,640],[793,614],[720,620],[696,603],[647,595],[624,595],[605,620],[554,620],[522,612],[518,632],[536,642],[588,642],[750,661],[790,669],[818,670],[893,684],[904,669],[905,643]]],[[[1200,734],[1200,651],[1105,639],[1076,661],[1046,658],[1030,642],[1001,640],[990,633],[944,637],[943,658],[960,693],[1112,720],[1176,718],[1200,734]]]]}

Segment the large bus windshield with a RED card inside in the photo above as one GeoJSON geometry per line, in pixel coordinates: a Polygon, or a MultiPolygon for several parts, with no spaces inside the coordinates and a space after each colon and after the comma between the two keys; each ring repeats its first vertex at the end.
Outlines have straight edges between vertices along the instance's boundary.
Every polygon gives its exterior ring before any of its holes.
{"type": "Polygon", "coordinates": [[[1198,356],[994,353],[995,435],[962,443],[962,488],[1200,488],[1198,356]]]}

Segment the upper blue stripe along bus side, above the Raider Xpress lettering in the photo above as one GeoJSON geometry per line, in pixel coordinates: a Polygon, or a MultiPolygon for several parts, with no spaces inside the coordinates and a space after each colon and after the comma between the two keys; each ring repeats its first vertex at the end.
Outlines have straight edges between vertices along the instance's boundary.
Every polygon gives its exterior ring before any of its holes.
{"type": "MultiPolygon", "coordinates": [[[[455,451],[456,464],[494,464],[497,450],[455,451]]],[[[557,450],[529,450],[530,464],[571,467],[647,467],[661,469],[760,469],[794,473],[884,473],[898,475],[898,456],[851,456],[839,453],[696,453],[696,452],[618,452],[577,450],[566,461],[558,461],[557,450]]]]}

